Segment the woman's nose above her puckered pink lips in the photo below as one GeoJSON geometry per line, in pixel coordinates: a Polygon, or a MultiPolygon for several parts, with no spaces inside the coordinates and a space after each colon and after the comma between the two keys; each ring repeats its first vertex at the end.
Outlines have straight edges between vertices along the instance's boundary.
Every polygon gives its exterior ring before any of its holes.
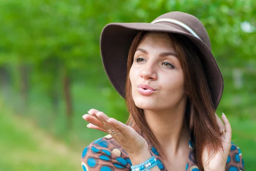
{"type": "Polygon", "coordinates": [[[140,72],[140,77],[144,78],[145,80],[156,80],[157,79],[157,72],[155,67],[152,64],[145,64],[143,69],[140,72]]]}

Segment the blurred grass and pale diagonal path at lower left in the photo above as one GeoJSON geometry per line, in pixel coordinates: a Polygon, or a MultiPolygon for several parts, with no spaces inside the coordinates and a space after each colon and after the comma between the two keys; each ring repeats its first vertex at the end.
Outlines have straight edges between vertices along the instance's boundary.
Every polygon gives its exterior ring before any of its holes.
{"type": "Polygon", "coordinates": [[[0,113],[0,171],[81,171],[74,151],[10,111],[0,113]]]}

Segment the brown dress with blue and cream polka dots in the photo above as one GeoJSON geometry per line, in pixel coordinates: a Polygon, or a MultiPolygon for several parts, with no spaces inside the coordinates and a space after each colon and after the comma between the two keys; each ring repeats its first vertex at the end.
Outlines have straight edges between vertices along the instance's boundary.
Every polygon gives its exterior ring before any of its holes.
{"type": "MultiPolygon", "coordinates": [[[[138,133],[140,133],[138,131],[138,133]]],[[[143,136],[142,133],[140,135],[143,136]]],[[[151,155],[161,161],[159,153],[152,147],[151,155]]],[[[82,151],[81,165],[83,171],[131,171],[131,160],[126,151],[111,135],[104,136],[90,143],[82,151]]],[[[199,171],[194,154],[194,146],[189,140],[189,158],[186,168],[181,171],[199,171]]],[[[157,165],[160,171],[167,171],[163,164],[157,165]]],[[[241,150],[232,144],[227,158],[225,171],[244,171],[244,159],[241,150]]]]}

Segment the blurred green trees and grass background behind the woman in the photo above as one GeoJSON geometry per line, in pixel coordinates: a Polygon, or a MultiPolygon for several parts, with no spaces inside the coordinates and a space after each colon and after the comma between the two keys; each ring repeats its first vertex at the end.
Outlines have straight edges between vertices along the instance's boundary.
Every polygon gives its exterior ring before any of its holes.
{"type": "Polygon", "coordinates": [[[96,108],[128,119],[102,67],[102,28],[171,11],[206,26],[224,76],[217,114],[255,171],[255,0],[0,0],[0,171],[81,170],[83,148],[105,135],[82,115],[96,108]]]}

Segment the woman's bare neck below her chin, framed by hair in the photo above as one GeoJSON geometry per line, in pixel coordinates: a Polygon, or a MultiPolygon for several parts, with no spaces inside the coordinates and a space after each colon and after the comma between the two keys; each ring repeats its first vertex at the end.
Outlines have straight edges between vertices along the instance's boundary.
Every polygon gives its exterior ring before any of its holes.
{"type": "Polygon", "coordinates": [[[175,155],[180,148],[188,146],[190,135],[184,106],[171,110],[144,110],[144,114],[163,150],[172,151],[175,155]]]}

